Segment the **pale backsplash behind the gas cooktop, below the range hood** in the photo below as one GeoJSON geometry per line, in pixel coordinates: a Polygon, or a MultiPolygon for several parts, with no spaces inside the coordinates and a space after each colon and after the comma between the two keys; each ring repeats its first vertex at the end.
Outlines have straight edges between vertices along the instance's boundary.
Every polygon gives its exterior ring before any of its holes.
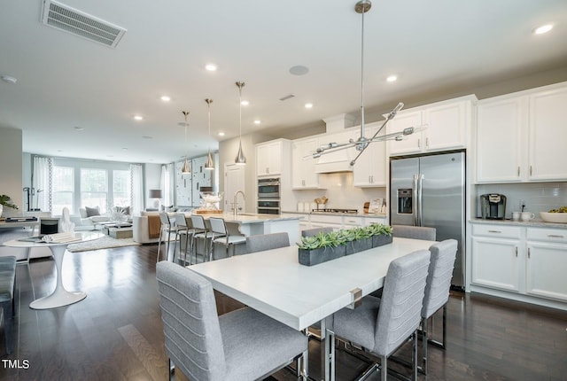
{"type": "MultiPolygon", "coordinates": [[[[353,186],[352,172],[338,172],[319,175],[321,190],[293,191],[299,202],[314,202],[315,198],[329,198],[324,207],[357,209],[363,211],[364,203],[372,198],[385,198],[385,188],[357,188],[353,186]]],[[[323,207],[323,206],[322,206],[323,207]]]]}

